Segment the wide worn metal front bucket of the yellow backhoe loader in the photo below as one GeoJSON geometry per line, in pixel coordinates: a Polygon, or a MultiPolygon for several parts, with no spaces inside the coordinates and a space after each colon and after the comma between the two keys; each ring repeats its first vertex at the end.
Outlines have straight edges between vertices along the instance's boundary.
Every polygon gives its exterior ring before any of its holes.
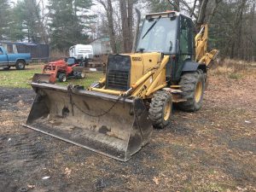
{"type": "Polygon", "coordinates": [[[148,143],[152,125],[141,99],[32,83],[37,96],[26,127],[126,161],[148,143]]]}

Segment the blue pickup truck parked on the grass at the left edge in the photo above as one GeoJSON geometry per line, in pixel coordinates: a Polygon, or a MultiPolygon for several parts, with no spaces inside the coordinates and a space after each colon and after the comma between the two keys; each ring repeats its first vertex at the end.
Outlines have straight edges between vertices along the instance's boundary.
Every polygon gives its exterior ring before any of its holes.
{"type": "Polygon", "coordinates": [[[9,54],[3,46],[0,46],[0,67],[3,67],[3,69],[7,70],[10,67],[16,67],[16,69],[22,70],[31,61],[30,54],[9,54]]]}

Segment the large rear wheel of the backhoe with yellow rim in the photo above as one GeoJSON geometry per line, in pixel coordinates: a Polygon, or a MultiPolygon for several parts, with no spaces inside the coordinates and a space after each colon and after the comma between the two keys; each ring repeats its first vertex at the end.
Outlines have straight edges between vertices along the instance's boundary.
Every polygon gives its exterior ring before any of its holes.
{"type": "Polygon", "coordinates": [[[186,102],[178,102],[177,107],[183,111],[194,112],[201,108],[204,90],[205,75],[201,70],[194,73],[184,73],[179,82],[181,85],[181,96],[186,102]]]}

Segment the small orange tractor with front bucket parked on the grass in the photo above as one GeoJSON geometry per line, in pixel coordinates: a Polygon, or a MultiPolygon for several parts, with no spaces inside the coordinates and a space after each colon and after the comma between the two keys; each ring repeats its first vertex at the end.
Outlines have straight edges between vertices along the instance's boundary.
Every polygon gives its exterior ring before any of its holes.
{"type": "Polygon", "coordinates": [[[32,80],[54,84],[56,79],[60,82],[66,82],[67,78],[84,79],[87,63],[87,60],[79,61],[74,57],[51,61],[45,64],[42,73],[36,73],[32,80]]]}

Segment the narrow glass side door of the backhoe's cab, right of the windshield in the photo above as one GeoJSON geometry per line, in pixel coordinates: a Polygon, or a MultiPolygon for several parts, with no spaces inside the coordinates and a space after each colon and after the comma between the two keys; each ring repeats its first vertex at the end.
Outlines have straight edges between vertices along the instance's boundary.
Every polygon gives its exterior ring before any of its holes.
{"type": "Polygon", "coordinates": [[[194,24],[191,19],[180,15],[177,32],[177,58],[172,80],[180,79],[185,61],[192,61],[194,58],[194,24]]]}

